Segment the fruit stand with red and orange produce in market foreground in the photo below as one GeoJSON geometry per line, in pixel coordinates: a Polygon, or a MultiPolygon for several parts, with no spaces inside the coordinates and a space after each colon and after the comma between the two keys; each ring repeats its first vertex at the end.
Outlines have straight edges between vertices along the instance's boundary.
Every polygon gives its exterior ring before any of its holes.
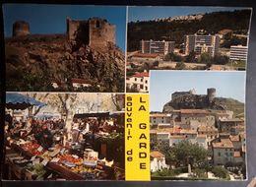
{"type": "MultiPolygon", "coordinates": [[[[45,170],[50,171],[48,172],[50,176],[56,175],[62,180],[111,180],[116,179],[115,172],[117,170],[119,172],[117,175],[121,176],[119,179],[123,177],[123,173],[120,174],[120,168],[106,165],[106,160],[100,160],[96,157],[85,159],[84,157],[69,155],[65,148],[59,147],[46,151],[36,143],[28,142],[22,145],[11,144],[11,150],[17,155],[15,155],[16,157],[14,154],[7,155],[6,160],[9,171],[16,172],[14,174],[17,179],[33,179],[32,174],[30,176],[30,172],[28,173],[26,165],[19,165],[19,161],[27,163],[27,167],[29,164],[40,163],[45,170]]],[[[45,178],[42,179],[45,180],[45,178]]]]}

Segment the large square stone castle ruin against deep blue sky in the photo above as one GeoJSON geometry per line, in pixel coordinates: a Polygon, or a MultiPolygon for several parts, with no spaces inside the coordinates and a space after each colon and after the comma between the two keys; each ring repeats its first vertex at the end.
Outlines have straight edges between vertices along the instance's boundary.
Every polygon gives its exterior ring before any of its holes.
{"type": "Polygon", "coordinates": [[[95,49],[115,44],[115,26],[106,20],[92,18],[87,21],[77,21],[67,18],[67,38],[77,48],[90,45],[95,49]]]}

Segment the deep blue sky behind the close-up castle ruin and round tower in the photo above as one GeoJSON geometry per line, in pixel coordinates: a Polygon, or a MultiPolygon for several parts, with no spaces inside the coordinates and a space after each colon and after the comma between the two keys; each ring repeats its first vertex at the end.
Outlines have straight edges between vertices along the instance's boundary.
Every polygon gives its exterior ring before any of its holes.
{"type": "Polygon", "coordinates": [[[65,33],[67,17],[74,20],[103,18],[116,26],[116,44],[125,50],[124,6],[6,4],[3,6],[3,12],[5,36],[12,35],[12,26],[19,20],[30,23],[32,33],[65,33]]]}

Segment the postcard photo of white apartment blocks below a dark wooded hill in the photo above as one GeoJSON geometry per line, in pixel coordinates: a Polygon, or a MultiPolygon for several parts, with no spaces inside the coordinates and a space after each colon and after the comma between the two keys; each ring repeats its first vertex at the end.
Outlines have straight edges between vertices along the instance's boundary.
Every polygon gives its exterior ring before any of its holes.
{"type": "Polygon", "coordinates": [[[128,7],[127,93],[149,93],[151,70],[245,71],[251,8],[128,7]]]}

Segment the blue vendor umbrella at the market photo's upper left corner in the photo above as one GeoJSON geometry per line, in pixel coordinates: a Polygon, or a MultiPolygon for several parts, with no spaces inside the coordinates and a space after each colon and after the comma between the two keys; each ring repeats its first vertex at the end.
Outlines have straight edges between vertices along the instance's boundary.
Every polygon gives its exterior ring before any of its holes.
{"type": "Polygon", "coordinates": [[[40,102],[30,96],[24,94],[6,94],[5,106],[9,109],[26,109],[30,106],[44,106],[43,102],[40,102]]]}

